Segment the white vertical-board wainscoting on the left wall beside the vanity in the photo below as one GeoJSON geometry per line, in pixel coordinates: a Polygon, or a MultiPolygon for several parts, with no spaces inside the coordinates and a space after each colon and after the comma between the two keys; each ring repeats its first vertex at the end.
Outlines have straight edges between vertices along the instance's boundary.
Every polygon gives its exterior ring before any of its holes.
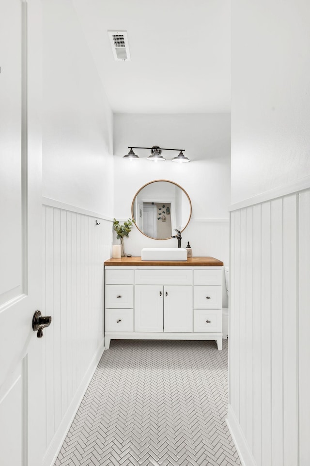
{"type": "Polygon", "coordinates": [[[46,455],[55,455],[104,348],[104,261],[111,255],[112,223],[43,206],[46,455]],[[95,221],[100,222],[96,225],[95,221]]]}

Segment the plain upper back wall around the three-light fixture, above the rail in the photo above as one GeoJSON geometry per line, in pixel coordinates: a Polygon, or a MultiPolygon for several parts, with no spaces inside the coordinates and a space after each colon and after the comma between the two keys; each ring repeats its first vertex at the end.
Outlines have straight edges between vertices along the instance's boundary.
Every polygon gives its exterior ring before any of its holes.
{"type": "Polygon", "coordinates": [[[193,218],[228,218],[230,121],[228,113],[114,115],[115,216],[131,216],[132,199],[142,185],[167,179],[187,191],[193,218]],[[173,163],[171,158],[178,153],[163,151],[167,160],[154,163],[146,159],[150,151],[139,149],[136,153],[141,159],[130,162],[122,157],[131,144],[186,149],[191,162],[173,163]]]}

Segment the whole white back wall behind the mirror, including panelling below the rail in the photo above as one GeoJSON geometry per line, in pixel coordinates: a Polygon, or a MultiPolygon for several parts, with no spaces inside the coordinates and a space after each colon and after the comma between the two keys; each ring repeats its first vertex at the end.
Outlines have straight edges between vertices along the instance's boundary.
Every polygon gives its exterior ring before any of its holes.
{"type": "MultiPolygon", "coordinates": [[[[131,217],[136,192],[156,179],[178,183],[191,199],[192,220],[182,233],[182,247],[190,241],[194,256],[213,256],[228,264],[230,114],[114,115],[114,216],[131,217]],[[130,162],[122,158],[128,153],[128,145],[186,149],[185,155],[191,162],[171,162],[178,153],[163,151],[167,160],[154,163],[146,159],[150,151],[139,149],[135,152],[141,159],[130,162]]],[[[117,244],[115,237],[114,242],[117,244]]],[[[141,248],[177,247],[177,240],[159,244],[134,228],[129,238],[124,239],[124,245],[126,253],[140,256],[141,248]]],[[[223,305],[227,307],[225,286],[223,305]]]]}

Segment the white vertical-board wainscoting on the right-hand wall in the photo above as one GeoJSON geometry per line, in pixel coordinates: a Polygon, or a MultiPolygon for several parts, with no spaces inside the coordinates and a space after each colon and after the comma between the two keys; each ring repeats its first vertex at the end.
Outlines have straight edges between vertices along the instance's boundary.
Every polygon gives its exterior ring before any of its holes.
{"type": "Polygon", "coordinates": [[[228,424],[244,466],[310,465],[310,189],[230,229],[228,424]]]}

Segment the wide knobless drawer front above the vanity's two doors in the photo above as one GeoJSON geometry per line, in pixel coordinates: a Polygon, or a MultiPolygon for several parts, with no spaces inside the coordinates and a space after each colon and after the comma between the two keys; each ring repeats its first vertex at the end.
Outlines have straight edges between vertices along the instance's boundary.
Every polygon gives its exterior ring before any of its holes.
{"type": "Polygon", "coordinates": [[[192,270],[136,270],[136,285],[191,285],[192,270]]]}

